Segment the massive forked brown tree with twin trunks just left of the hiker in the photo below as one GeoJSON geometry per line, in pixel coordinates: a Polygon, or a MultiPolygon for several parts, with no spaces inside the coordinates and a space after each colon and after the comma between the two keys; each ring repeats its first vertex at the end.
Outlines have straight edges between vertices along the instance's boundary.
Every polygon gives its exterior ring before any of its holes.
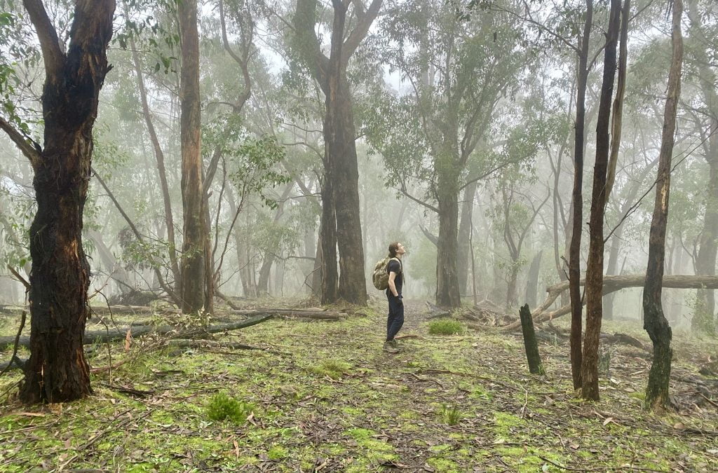
{"type": "Polygon", "coordinates": [[[345,299],[366,304],[364,249],[361,238],[358,166],[349,61],[381,9],[382,0],[366,6],[359,0],[332,0],[329,55],[322,51],[317,0],[297,0],[294,47],[325,95],[324,180],[322,182],[322,302],[345,299]],[[339,248],[337,286],[336,248],[339,248]]]}

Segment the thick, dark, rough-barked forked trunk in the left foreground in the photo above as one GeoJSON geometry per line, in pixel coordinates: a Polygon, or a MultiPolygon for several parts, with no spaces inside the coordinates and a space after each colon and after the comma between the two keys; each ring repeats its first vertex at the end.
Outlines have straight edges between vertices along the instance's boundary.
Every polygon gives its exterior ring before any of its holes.
{"type": "Polygon", "coordinates": [[[19,395],[25,403],[57,403],[92,393],[83,350],[90,284],[83,209],[115,2],[75,3],[67,52],[42,2],[23,3],[45,62],[45,147],[24,150],[34,169],[37,212],[30,227],[30,357],[19,395]]]}

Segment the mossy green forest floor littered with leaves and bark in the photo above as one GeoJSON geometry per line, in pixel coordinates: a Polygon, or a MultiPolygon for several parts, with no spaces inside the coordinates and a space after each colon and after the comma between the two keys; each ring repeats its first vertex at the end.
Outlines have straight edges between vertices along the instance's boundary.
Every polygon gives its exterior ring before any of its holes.
{"type": "MultiPolygon", "coordinates": [[[[108,348],[113,364],[127,362],[93,375],[95,395],[75,403],[22,406],[12,395],[19,372],[6,374],[0,471],[718,470],[718,396],[706,388],[715,378],[698,374],[717,357],[716,342],[676,339],[679,411],[656,416],[642,408],[650,360],[638,348],[607,350],[601,401],[585,403],[558,339],[539,345],[547,374],[529,375],[520,334],[431,335],[424,304],[407,301],[401,334],[416,337],[390,355],[385,304],[340,322],[271,319],[214,337],[262,350],[153,350],[151,338],[88,347],[93,367],[110,364],[108,348]],[[211,420],[218,393],[241,401],[248,418],[211,420]]],[[[0,318],[0,334],[16,325],[0,318]]],[[[640,322],[604,331],[650,346],[640,322]]]]}

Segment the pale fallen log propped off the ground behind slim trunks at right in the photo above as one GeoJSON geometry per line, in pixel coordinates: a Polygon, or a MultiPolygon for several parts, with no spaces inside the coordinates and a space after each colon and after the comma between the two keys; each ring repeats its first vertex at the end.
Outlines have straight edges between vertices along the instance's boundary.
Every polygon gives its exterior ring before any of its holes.
{"type": "MultiPolygon", "coordinates": [[[[586,283],[586,278],[581,278],[581,285],[586,283]]],[[[625,274],[621,276],[603,276],[603,291],[602,294],[610,294],[620,289],[628,287],[643,287],[645,285],[645,274],[625,274]]],[[[663,287],[671,289],[718,289],[718,276],[686,276],[686,275],[672,275],[663,276],[663,287]]],[[[567,304],[560,309],[556,309],[551,312],[546,312],[547,309],[554,304],[554,301],[558,299],[563,291],[569,289],[569,281],[562,281],[554,286],[546,288],[546,292],[549,293],[546,296],[546,300],[536,310],[531,312],[533,322],[544,322],[546,320],[555,319],[562,315],[569,314],[571,312],[571,304],[567,304]]],[[[585,301],[584,301],[585,304],[585,301]]],[[[504,332],[510,332],[512,330],[521,327],[521,320],[516,320],[501,329],[504,332]]]]}

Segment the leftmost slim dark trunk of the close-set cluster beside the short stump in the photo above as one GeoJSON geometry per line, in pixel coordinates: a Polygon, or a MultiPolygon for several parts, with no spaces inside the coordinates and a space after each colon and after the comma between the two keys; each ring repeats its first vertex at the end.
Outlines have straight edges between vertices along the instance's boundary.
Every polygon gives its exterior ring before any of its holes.
{"type": "Polygon", "coordinates": [[[588,52],[593,22],[593,0],[586,1],[586,24],[581,37],[576,87],[576,126],[574,134],[574,187],[572,191],[571,244],[569,245],[569,296],[571,298],[571,373],[574,389],[581,387],[581,336],[583,304],[581,300],[581,232],[583,230],[583,164],[586,121],[586,85],[588,52]]]}

